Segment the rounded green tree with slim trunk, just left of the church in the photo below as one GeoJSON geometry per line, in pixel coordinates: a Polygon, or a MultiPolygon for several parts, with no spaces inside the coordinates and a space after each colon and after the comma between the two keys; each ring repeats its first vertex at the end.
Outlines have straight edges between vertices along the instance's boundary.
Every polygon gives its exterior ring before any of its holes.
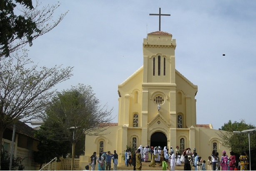
{"type": "Polygon", "coordinates": [[[73,170],[75,146],[84,141],[85,134],[100,135],[107,127],[99,129],[100,123],[111,122],[111,110],[101,106],[90,86],[79,84],[69,90],[63,90],[53,98],[46,110],[47,120],[58,125],[53,132],[48,132],[51,139],[67,140],[72,143],[73,170]],[[65,135],[65,136],[59,136],[65,135]]]}

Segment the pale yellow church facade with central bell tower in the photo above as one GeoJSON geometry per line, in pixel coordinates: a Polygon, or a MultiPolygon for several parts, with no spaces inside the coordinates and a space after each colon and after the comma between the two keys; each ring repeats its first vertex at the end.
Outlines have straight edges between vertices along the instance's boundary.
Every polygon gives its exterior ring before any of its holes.
{"type": "MultiPolygon", "coordinates": [[[[229,155],[218,136],[221,130],[196,124],[198,86],[176,70],[175,49],[176,39],[167,32],[143,39],[143,66],[118,85],[118,123],[109,125],[108,134],[85,137],[86,162],[94,151],[97,156],[101,151],[121,154],[126,146],[140,145],[196,148],[206,161],[213,150],[229,155]]],[[[118,163],[124,165],[121,156],[118,163]]]]}

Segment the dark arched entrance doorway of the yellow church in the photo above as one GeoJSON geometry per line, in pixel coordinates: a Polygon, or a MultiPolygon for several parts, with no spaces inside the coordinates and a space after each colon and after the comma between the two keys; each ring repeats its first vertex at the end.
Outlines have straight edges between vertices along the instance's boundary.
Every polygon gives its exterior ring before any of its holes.
{"type": "Polygon", "coordinates": [[[155,132],[150,138],[150,147],[167,147],[167,137],[162,132],[155,132]]]}

